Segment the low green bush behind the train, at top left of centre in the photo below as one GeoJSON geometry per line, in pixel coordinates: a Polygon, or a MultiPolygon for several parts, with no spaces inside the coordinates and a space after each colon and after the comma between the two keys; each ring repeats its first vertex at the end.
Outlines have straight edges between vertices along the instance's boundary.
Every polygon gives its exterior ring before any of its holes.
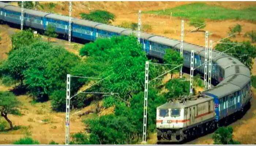
{"type": "Polygon", "coordinates": [[[103,10],[95,10],[90,12],[89,14],[81,13],[80,14],[82,19],[90,20],[94,22],[106,23],[110,24],[115,20],[115,15],[103,10]]]}

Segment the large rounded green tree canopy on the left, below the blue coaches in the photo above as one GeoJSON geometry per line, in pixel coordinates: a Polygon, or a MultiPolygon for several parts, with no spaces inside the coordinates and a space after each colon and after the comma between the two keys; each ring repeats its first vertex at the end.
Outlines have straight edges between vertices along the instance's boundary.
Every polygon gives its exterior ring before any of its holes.
{"type": "MultiPolygon", "coordinates": [[[[64,48],[39,41],[12,51],[0,70],[19,80],[38,100],[46,101],[54,91],[65,89],[66,74],[79,62],[64,48]]],[[[78,86],[73,86],[74,91],[78,86]]]]}

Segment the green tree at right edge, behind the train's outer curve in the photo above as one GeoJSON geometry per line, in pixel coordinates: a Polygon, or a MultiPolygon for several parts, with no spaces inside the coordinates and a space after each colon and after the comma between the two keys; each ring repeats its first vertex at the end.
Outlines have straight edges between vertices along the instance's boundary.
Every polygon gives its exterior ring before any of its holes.
{"type": "Polygon", "coordinates": [[[252,69],[253,61],[252,59],[256,57],[256,46],[251,45],[249,41],[241,42],[241,46],[236,45],[238,42],[230,41],[230,39],[225,39],[222,42],[216,45],[215,49],[218,51],[225,51],[230,49],[225,53],[230,54],[231,56],[239,59],[243,64],[245,64],[250,70],[252,69]],[[229,44],[226,44],[229,43],[229,44]],[[245,55],[244,55],[245,54],[245,55]]]}

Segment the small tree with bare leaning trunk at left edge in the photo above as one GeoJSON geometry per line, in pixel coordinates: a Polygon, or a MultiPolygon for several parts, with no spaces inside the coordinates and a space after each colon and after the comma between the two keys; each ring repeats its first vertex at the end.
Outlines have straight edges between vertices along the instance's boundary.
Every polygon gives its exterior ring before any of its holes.
{"type": "Polygon", "coordinates": [[[10,119],[8,119],[8,114],[19,115],[19,110],[17,108],[19,101],[16,96],[11,92],[0,91],[0,112],[1,116],[10,124],[10,129],[12,130],[13,125],[10,119]]]}

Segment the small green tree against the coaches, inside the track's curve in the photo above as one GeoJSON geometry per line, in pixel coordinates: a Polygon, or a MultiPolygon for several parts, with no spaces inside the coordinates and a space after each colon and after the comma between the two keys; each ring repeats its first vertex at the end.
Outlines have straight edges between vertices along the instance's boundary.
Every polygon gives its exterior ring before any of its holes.
{"type": "MultiPolygon", "coordinates": [[[[163,57],[163,62],[165,64],[170,64],[170,65],[181,65],[183,64],[183,58],[180,57],[180,53],[177,51],[174,51],[172,49],[166,49],[165,55],[163,57]]],[[[166,67],[168,70],[171,70],[175,68],[176,66],[168,66],[166,67]]],[[[171,73],[171,78],[173,78],[173,74],[175,72],[178,72],[180,68],[176,68],[172,70],[171,73]]]]}

